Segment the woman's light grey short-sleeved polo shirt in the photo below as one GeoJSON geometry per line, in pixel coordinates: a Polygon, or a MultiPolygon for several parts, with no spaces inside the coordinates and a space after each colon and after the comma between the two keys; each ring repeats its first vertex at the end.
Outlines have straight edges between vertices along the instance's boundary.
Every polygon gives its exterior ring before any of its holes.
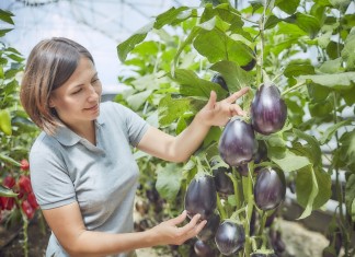
{"type": "MultiPolygon", "coordinates": [[[[30,152],[33,190],[44,210],[77,201],[90,231],[133,232],[139,171],[131,147],[148,124],[123,105],[105,102],[95,125],[96,145],[67,127],[53,137],[38,136],[30,152]]],[[[46,256],[68,256],[54,234],[46,256]]]]}

